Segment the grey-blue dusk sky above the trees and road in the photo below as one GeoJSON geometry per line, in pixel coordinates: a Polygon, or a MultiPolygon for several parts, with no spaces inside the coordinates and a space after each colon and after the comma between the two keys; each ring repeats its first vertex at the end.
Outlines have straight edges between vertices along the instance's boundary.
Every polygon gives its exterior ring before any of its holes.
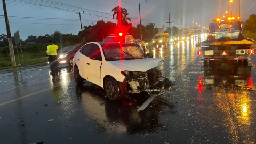
{"type": "MultiPolygon", "coordinates": [[[[79,15],[75,13],[78,11],[85,13],[81,15],[83,26],[95,24],[102,19],[116,23],[112,18],[111,10],[119,2],[118,0],[6,0],[6,3],[12,36],[19,30],[21,39],[26,39],[30,35],[50,35],[56,30],[63,34],[77,35],[81,31],[79,15]]],[[[137,24],[139,24],[138,3],[137,0],[121,2],[121,7],[127,9],[131,22],[137,21],[137,24]]],[[[2,1],[0,5],[0,33],[6,34],[2,1]]],[[[230,12],[229,15],[233,11],[233,16],[238,17],[238,0],[233,3],[229,0],[148,0],[141,6],[143,6],[141,15],[145,15],[142,18],[143,25],[150,22],[155,23],[156,27],[164,25],[165,29],[169,27],[166,22],[169,21],[169,13],[172,12],[174,13],[171,14],[171,21],[175,22],[171,26],[177,26],[179,29],[181,29],[181,19],[183,25],[189,28],[191,21],[209,27],[213,19],[223,15],[227,17],[226,10],[230,12]]],[[[256,14],[256,0],[242,0],[241,19],[246,20],[251,14],[256,14]]]]}

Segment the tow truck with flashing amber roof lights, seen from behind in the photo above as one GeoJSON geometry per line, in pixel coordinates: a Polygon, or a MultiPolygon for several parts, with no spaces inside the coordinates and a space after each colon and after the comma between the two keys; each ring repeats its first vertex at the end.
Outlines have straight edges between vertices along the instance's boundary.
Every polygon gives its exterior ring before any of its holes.
{"type": "Polygon", "coordinates": [[[251,55],[254,54],[252,45],[256,42],[244,37],[242,21],[239,17],[228,17],[227,19],[215,19],[210,23],[209,36],[206,41],[198,43],[200,47],[197,52],[204,61],[248,65],[251,55]]]}

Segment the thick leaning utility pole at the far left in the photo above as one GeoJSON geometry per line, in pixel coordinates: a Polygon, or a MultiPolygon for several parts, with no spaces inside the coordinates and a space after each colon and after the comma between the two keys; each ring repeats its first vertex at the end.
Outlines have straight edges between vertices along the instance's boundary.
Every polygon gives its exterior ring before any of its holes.
{"type": "Polygon", "coordinates": [[[8,38],[12,66],[16,66],[15,55],[14,55],[14,50],[13,50],[13,45],[12,45],[12,36],[11,36],[11,30],[10,30],[5,0],[3,0],[3,8],[4,8],[4,18],[5,18],[5,25],[6,25],[7,38],[8,38]]]}

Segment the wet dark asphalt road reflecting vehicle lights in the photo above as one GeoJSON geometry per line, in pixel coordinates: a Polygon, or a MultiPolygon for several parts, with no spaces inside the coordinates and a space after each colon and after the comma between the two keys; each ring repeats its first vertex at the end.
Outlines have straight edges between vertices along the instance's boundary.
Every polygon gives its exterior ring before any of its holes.
{"type": "Polygon", "coordinates": [[[148,50],[166,56],[159,69],[177,90],[141,113],[145,93],[111,102],[69,67],[0,71],[0,143],[255,143],[255,55],[249,66],[203,66],[193,45],[148,50]]]}

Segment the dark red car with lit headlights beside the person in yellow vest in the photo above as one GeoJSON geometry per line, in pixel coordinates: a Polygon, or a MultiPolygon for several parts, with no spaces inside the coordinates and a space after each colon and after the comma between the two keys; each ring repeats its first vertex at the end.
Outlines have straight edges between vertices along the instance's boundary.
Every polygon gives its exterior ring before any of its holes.
{"type": "Polygon", "coordinates": [[[73,66],[73,58],[77,51],[81,49],[84,44],[74,44],[63,47],[58,53],[58,63],[61,64],[69,64],[73,66]]]}

